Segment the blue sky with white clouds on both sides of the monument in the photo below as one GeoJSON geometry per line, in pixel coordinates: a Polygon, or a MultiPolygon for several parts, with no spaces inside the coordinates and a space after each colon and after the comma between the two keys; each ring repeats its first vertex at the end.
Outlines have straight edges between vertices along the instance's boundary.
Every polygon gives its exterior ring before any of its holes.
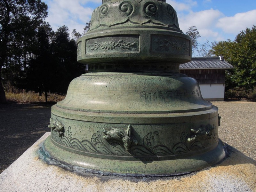
{"type": "MultiPolygon", "coordinates": [[[[101,0],[42,0],[48,5],[47,22],[54,31],[66,25],[70,32],[82,33],[92,11],[102,4],[101,0]]],[[[256,25],[255,0],[166,0],[176,10],[180,29],[185,33],[195,25],[201,35],[199,44],[205,40],[234,40],[246,27],[256,25]]]]}

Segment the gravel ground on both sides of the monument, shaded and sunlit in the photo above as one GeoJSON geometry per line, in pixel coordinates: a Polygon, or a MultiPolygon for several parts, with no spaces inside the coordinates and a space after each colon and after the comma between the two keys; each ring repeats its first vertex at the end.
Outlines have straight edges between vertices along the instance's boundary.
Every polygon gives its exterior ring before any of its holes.
{"type": "MultiPolygon", "coordinates": [[[[256,102],[213,101],[219,108],[219,138],[256,160],[256,102]]],[[[0,173],[49,129],[52,104],[0,105],[0,173]]]]}

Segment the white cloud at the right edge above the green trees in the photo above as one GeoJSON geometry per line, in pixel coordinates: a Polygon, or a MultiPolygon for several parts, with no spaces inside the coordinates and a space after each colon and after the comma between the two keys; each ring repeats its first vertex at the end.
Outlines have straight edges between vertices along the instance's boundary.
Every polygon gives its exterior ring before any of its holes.
{"type": "Polygon", "coordinates": [[[237,35],[245,28],[255,25],[256,9],[244,13],[237,13],[233,17],[220,18],[217,27],[224,32],[237,35]]]}

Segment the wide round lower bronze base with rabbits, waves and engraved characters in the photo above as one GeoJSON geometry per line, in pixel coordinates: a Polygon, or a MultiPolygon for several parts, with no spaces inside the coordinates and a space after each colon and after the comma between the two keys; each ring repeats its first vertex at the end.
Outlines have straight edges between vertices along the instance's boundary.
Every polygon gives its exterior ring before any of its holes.
{"type": "Polygon", "coordinates": [[[52,106],[51,121],[45,153],[84,171],[176,175],[225,157],[218,108],[182,74],[84,74],[52,106]]]}

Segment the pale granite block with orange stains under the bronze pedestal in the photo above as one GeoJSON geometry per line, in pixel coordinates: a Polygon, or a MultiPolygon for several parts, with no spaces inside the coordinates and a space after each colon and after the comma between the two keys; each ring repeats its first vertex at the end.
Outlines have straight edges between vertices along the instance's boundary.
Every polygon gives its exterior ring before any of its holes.
{"type": "Polygon", "coordinates": [[[49,135],[45,133],[0,175],[0,191],[256,191],[256,162],[230,146],[219,164],[183,176],[113,177],[76,174],[46,164],[39,148],[49,135]]]}

